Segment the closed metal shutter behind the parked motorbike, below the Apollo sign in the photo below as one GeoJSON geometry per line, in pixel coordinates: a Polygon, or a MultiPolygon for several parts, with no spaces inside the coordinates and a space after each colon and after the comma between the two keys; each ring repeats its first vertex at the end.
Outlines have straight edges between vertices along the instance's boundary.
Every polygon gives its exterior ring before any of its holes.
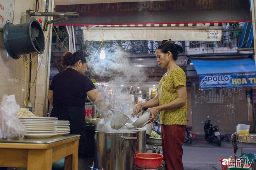
{"type": "Polygon", "coordinates": [[[232,134],[237,124],[248,124],[246,88],[200,90],[198,79],[193,79],[191,98],[195,134],[204,134],[201,122],[208,115],[221,134],[232,134]]]}

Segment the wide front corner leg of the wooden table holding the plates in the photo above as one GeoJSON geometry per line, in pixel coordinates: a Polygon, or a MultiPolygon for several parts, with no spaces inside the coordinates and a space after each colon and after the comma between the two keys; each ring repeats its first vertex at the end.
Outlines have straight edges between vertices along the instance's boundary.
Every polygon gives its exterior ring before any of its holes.
{"type": "Polygon", "coordinates": [[[52,148],[29,149],[27,170],[52,170],[52,148]]]}

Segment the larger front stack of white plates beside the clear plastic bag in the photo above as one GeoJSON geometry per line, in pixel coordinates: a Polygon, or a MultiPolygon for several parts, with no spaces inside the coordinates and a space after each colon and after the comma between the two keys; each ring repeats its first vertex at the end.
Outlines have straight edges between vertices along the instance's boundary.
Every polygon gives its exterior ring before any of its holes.
{"type": "Polygon", "coordinates": [[[48,138],[57,135],[55,117],[19,117],[26,127],[25,138],[48,138]]]}

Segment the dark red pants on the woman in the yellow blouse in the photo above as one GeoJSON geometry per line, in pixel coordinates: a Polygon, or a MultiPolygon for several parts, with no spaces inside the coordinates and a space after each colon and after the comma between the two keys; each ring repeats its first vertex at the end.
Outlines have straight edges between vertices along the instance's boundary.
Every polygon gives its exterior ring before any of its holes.
{"type": "Polygon", "coordinates": [[[161,125],[161,136],[165,170],[183,170],[182,144],[185,139],[185,125],[161,125]]]}

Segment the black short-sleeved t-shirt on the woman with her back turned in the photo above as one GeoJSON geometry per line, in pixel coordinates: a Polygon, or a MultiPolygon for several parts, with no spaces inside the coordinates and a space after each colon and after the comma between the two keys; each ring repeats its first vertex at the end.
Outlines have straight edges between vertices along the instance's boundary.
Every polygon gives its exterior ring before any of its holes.
{"type": "Polygon", "coordinates": [[[52,79],[53,106],[85,106],[86,92],[95,89],[91,79],[68,68],[52,79]]]}

